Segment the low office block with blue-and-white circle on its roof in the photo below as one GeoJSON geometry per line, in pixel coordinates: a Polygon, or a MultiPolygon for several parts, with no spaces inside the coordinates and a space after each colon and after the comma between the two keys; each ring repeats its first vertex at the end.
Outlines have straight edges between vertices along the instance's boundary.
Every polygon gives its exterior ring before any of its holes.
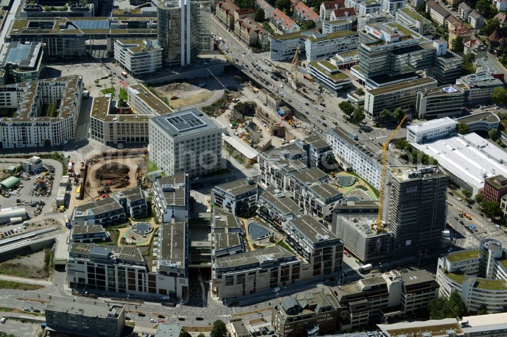
{"type": "Polygon", "coordinates": [[[416,115],[423,119],[459,116],[465,94],[455,86],[443,86],[417,93],[416,115]]]}

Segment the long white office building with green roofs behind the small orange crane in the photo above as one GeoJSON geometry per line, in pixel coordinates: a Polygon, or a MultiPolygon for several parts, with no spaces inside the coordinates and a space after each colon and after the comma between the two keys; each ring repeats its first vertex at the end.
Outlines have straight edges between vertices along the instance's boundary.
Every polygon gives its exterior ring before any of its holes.
{"type": "Polygon", "coordinates": [[[316,29],[271,37],[270,60],[292,59],[297,47],[300,55],[306,55],[308,62],[327,60],[336,53],[357,48],[357,32],[337,31],[329,34],[316,29]]]}

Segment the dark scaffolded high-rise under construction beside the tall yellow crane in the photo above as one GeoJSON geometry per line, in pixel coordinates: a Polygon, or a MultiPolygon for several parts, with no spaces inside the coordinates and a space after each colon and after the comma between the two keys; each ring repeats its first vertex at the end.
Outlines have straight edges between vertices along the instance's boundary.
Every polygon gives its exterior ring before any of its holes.
{"type": "Polygon", "coordinates": [[[433,167],[391,166],[386,177],[386,223],[394,233],[394,256],[432,252],[441,246],[449,178],[433,167]],[[421,214],[425,217],[421,218],[421,214]]]}

